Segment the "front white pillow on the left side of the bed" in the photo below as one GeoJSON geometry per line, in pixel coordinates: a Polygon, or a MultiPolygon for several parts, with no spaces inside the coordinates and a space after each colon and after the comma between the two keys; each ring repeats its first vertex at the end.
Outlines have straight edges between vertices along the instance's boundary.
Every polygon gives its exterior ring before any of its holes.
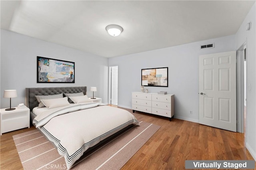
{"type": "Polygon", "coordinates": [[[48,107],[48,109],[70,105],[68,97],[58,99],[41,99],[41,101],[46,107],[48,107]]]}

